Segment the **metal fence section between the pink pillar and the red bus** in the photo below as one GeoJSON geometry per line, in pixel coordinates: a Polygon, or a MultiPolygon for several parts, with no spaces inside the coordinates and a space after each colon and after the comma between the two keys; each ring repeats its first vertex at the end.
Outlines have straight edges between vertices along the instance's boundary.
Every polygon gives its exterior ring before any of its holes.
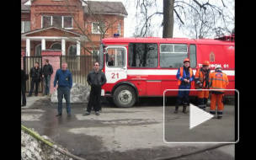
{"type": "Polygon", "coordinates": [[[85,86],[87,75],[93,70],[95,61],[99,61],[99,56],[61,56],[61,63],[67,62],[67,69],[72,73],[73,83],[81,83],[85,86]]]}

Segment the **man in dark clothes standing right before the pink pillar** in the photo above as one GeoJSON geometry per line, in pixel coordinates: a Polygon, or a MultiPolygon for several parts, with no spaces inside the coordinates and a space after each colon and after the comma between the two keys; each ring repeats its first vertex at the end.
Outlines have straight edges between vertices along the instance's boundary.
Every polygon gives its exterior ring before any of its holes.
{"type": "Polygon", "coordinates": [[[51,81],[51,74],[53,73],[53,68],[49,63],[48,59],[44,60],[44,66],[42,70],[42,77],[44,78],[44,86],[45,86],[45,95],[50,93],[50,81],[51,81]]]}

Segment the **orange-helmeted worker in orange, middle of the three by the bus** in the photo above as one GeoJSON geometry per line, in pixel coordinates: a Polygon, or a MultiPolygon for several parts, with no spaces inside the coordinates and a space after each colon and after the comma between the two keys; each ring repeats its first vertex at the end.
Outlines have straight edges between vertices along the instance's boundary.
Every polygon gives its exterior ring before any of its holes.
{"type": "Polygon", "coordinates": [[[210,74],[211,69],[209,69],[210,62],[204,61],[203,67],[200,67],[195,72],[195,89],[200,89],[198,91],[198,107],[205,110],[206,104],[209,98],[209,87],[210,87],[210,74]]]}

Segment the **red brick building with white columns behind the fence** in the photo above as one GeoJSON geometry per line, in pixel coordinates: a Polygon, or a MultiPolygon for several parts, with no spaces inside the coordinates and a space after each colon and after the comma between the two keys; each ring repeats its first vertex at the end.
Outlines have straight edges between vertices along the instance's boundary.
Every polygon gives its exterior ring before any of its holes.
{"type": "Polygon", "coordinates": [[[121,2],[21,0],[21,50],[24,56],[61,50],[64,55],[99,52],[100,40],[124,35],[127,12],[121,2]]]}

